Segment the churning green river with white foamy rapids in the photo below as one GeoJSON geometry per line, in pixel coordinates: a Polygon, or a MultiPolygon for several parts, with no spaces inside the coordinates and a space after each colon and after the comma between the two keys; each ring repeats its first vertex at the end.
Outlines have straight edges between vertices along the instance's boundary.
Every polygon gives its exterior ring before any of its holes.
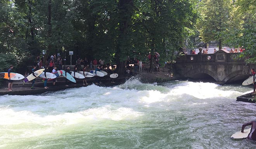
{"type": "Polygon", "coordinates": [[[0,149],[255,149],[255,141],[230,139],[255,120],[255,104],[236,101],[250,91],[130,79],[113,87],[0,96],[0,149]]]}

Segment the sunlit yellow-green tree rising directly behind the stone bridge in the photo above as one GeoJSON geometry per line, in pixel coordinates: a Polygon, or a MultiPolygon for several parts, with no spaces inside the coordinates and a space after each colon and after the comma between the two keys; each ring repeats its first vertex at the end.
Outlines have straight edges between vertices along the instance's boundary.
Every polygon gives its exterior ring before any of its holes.
{"type": "Polygon", "coordinates": [[[202,0],[199,6],[201,20],[197,27],[202,41],[217,41],[221,49],[232,26],[235,25],[235,18],[231,15],[234,9],[233,0],[202,0]]]}

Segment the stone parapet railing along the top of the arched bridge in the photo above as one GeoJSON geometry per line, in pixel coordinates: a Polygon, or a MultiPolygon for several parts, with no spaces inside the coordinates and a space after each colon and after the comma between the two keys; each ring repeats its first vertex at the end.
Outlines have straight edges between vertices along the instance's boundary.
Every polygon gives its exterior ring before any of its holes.
{"type": "Polygon", "coordinates": [[[240,53],[214,53],[201,55],[183,55],[176,59],[176,63],[184,62],[244,62],[244,58],[239,58],[240,53]]]}

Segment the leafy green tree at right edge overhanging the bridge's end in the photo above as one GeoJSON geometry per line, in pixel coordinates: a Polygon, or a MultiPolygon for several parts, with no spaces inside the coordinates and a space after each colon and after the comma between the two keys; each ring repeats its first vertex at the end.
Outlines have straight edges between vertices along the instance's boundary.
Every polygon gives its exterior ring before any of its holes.
{"type": "Polygon", "coordinates": [[[244,46],[246,51],[240,57],[246,57],[247,63],[256,63],[256,0],[237,0],[235,14],[242,24],[235,29],[228,40],[235,47],[244,46]]]}

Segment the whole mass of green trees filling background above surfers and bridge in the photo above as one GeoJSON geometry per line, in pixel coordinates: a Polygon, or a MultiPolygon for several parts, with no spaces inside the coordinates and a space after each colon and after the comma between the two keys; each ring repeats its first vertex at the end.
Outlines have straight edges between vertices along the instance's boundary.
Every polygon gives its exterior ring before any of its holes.
{"type": "MultiPolygon", "coordinates": [[[[255,0],[1,0],[0,53],[22,69],[60,53],[70,62],[103,59],[125,71],[128,56],[145,60],[158,52],[173,62],[183,47],[202,43],[255,51],[255,0]]],[[[247,62],[255,62],[249,58],[247,62]]],[[[44,61],[45,62],[45,61],[44,61]]],[[[153,68],[153,57],[149,60],[153,68]]],[[[10,64],[8,63],[8,65],[10,64]]],[[[6,70],[8,65],[1,65],[6,70]]]]}

